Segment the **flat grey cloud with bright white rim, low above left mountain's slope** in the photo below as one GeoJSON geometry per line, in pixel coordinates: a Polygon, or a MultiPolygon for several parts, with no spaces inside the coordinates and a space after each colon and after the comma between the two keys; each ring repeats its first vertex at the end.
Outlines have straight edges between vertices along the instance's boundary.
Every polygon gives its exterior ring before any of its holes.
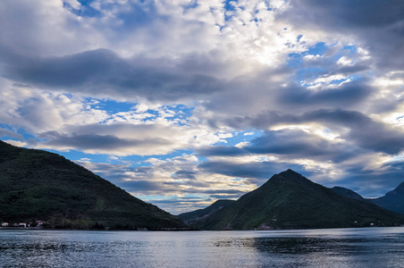
{"type": "Polygon", "coordinates": [[[164,155],[188,146],[187,128],[128,122],[64,125],[38,133],[38,148],[73,149],[90,154],[164,155]],[[179,138],[183,137],[183,138],[179,138]]]}

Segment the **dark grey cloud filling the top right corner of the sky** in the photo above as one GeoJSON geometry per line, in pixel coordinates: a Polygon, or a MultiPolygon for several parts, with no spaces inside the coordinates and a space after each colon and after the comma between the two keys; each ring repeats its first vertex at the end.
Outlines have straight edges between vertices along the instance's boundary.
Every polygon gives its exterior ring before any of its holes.
{"type": "Polygon", "coordinates": [[[291,0],[292,8],[279,19],[297,27],[310,27],[352,35],[368,47],[383,69],[402,69],[404,54],[404,2],[291,0]],[[400,56],[401,55],[401,56],[400,56]]]}

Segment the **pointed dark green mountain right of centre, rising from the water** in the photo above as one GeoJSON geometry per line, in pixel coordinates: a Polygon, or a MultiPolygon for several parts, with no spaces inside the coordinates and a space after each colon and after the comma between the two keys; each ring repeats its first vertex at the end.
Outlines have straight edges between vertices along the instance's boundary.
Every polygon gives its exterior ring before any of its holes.
{"type": "Polygon", "coordinates": [[[288,170],[201,220],[204,230],[300,229],[394,226],[400,214],[344,197],[288,170]]]}

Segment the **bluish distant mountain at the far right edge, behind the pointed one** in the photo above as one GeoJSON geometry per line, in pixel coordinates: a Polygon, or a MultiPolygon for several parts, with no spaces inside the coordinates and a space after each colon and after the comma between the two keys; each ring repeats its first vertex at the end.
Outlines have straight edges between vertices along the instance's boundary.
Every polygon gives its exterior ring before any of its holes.
{"type": "Polygon", "coordinates": [[[368,198],[369,202],[389,209],[399,214],[404,214],[404,182],[388,192],[384,197],[368,198]]]}

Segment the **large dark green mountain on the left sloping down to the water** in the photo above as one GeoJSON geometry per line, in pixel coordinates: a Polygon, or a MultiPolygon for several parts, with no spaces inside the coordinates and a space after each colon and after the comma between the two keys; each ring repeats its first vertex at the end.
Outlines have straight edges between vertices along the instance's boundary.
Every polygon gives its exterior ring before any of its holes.
{"type": "Polygon", "coordinates": [[[0,141],[0,222],[50,228],[183,228],[178,218],[61,155],[0,141]]]}

